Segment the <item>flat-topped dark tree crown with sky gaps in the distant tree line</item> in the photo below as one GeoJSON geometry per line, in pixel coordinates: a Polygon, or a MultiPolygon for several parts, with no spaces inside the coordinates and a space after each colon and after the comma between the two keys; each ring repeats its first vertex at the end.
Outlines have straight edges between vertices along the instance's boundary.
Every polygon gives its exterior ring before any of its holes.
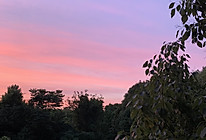
{"type": "Polygon", "coordinates": [[[62,90],[47,91],[46,89],[30,89],[29,104],[41,109],[58,108],[63,105],[62,90]]]}

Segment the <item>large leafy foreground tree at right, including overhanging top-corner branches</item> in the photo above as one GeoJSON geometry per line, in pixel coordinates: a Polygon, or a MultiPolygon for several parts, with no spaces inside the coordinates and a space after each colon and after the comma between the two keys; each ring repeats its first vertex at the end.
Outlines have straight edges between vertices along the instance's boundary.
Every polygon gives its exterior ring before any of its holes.
{"type": "Polygon", "coordinates": [[[175,11],[180,13],[180,38],[163,44],[160,54],[144,63],[145,74],[151,77],[145,89],[131,99],[133,124],[125,139],[199,139],[206,135],[206,87],[189,72],[190,56],[185,54],[190,36],[192,43],[205,46],[206,1],[180,0],[169,8],[171,17],[175,11]]]}

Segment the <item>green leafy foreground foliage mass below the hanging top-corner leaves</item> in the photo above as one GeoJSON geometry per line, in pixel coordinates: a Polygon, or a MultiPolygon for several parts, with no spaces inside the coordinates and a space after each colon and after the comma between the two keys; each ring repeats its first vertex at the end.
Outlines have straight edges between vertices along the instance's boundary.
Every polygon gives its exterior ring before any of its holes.
{"type": "MultiPolygon", "coordinates": [[[[131,136],[135,139],[195,139],[204,121],[197,101],[203,97],[199,83],[189,73],[184,46],[163,45],[146,67],[151,76],[145,89],[132,100],[131,136]]],[[[206,107],[206,106],[205,106],[206,107]]]]}

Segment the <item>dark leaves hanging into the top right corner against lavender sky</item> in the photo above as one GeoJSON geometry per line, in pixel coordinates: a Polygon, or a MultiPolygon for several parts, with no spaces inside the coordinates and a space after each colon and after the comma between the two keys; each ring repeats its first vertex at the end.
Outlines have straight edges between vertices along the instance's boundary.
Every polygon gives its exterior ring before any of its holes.
{"type": "Polygon", "coordinates": [[[191,37],[198,47],[206,45],[206,2],[205,0],[179,0],[169,5],[171,17],[179,13],[183,27],[177,31],[182,43],[191,37]],[[176,12],[175,12],[176,11],[176,12]]]}

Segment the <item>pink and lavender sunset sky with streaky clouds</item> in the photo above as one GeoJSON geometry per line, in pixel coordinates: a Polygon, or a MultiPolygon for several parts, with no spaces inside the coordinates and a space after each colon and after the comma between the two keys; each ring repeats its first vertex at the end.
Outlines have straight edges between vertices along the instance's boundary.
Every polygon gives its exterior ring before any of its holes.
{"type": "MultiPolygon", "coordinates": [[[[171,0],[1,0],[0,94],[12,84],[101,94],[120,103],[128,89],[149,79],[142,64],[164,41],[175,40],[178,16],[171,0]]],[[[206,50],[188,44],[191,71],[206,50]]]]}

